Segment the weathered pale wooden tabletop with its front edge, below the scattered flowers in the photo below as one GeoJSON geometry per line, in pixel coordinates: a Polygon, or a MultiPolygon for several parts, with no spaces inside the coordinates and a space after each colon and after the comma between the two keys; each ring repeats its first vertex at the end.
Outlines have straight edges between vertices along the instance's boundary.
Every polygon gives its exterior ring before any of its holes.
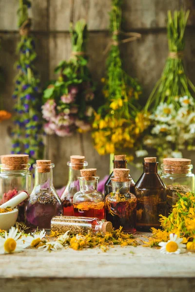
{"type": "Polygon", "coordinates": [[[0,292],[194,292],[195,254],[115,246],[0,255],[0,292]]]}

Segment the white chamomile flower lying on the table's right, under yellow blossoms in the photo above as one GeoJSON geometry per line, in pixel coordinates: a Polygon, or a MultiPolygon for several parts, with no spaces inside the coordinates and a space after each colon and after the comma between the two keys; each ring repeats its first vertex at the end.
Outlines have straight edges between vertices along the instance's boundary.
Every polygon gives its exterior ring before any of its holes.
{"type": "Polygon", "coordinates": [[[180,254],[185,253],[186,244],[181,243],[183,238],[177,237],[176,234],[171,233],[169,235],[170,240],[167,242],[159,242],[158,245],[161,246],[160,252],[162,254],[180,254]]]}

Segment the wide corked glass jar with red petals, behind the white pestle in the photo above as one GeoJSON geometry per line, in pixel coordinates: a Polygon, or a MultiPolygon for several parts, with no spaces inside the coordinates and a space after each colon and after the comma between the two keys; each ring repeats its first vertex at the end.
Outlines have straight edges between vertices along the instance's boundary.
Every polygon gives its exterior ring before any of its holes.
{"type": "MultiPolygon", "coordinates": [[[[0,204],[25,191],[30,194],[33,188],[33,176],[30,172],[27,154],[1,155],[0,164],[0,204]]],[[[24,222],[25,202],[18,206],[18,221],[24,222]]]]}

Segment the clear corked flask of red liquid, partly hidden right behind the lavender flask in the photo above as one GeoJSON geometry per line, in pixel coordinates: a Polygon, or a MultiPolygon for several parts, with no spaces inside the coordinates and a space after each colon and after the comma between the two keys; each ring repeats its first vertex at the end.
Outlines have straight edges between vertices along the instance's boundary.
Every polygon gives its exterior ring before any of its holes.
{"type": "Polygon", "coordinates": [[[66,188],[61,195],[63,215],[74,216],[73,196],[79,191],[78,176],[80,176],[80,169],[84,169],[85,166],[88,165],[84,159],[84,156],[72,155],[70,161],[67,163],[69,166],[69,179],[66,188]]]}

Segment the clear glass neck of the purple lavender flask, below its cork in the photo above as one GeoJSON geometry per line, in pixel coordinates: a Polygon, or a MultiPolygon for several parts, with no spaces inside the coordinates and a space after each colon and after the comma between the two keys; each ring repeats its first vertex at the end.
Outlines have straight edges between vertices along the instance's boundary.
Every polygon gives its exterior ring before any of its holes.
{"type": "Polygon", "coordinates": [[[40,189],[47,189],[53,187],[53,169],[49,172],[39,172],[35,169],[35,186],[40,185],[40,189]]]}

